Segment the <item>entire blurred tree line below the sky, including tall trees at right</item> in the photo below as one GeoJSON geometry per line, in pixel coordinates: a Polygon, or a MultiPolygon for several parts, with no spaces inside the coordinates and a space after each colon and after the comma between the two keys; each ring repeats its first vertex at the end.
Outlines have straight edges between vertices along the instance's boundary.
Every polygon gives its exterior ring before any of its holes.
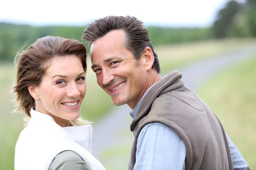
{"type": "MultiPolygon", "coordinates": [[[[13,61],[15,54],[24,44],[26,48],[38,38],[53,35],[81,40],[83,27],[41,26],[0,23],[0,61],[13,61]]],[[[216,20],[208,28],[168,28],[147,27],[153,45],[166,45],[180,42],[194,42],[226,37],[256,37],[256,0],[238,3],[227,2],[217,13],[216,20]]],[[[90,45],[87,45],[90,51],[90,45]]]]}

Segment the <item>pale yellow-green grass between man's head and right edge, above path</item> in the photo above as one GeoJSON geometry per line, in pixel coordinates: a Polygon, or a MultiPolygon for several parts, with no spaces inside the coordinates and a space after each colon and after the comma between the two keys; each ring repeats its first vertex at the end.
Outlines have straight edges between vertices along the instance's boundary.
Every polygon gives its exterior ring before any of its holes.
{"type": "Polygon", "coordinates": [[[244,45],[255,45],[255,39],[227,39],[191,42],[177,45],[164,45],[154,48],[157,53],[161,72],[166,73],[173,68],[182,68],[186,64],[195,63],[198,60],[212,55],[218,55],[239,49],[244,45]]]}

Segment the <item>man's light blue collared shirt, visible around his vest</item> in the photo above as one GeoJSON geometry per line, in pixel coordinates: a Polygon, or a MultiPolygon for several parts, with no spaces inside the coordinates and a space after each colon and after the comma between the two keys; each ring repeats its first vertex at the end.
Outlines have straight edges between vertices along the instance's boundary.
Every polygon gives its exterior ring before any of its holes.
{"type": "MultiPolygon", "coordinates": [[[[145,94],[130,113],[133,119],[145,94]]],[[[229,136],[227,136],[227,142],[234,169],[246,170],[247,163],[229,136]]],[[[185,158],[186,146],[180,136],[170,127],[154,122],[145,125],[140,131],[134,170],[185,170],[185,158]]]]}

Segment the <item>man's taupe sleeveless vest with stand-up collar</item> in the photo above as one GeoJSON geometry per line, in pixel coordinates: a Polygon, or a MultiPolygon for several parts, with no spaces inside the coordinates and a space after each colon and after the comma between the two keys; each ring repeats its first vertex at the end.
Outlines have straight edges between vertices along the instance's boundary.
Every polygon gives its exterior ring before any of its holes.
{"type": "Polygon", "coordinates": [[[137,138],[148,123],[174,130],[186,146],[186,170],[234,170],[224,128],[213,111],[180,80],[174,71],[145,95],[131,124],[134,142],[129,170],[136,162],[137,138]]]}

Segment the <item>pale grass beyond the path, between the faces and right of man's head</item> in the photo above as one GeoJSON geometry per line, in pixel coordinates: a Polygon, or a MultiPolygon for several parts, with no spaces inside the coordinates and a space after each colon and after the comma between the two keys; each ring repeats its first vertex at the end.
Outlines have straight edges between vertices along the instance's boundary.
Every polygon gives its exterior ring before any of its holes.
{"type": "MultiPolygon", "coordinates": [[[[218,55],[226,51],[241,48],[243,45],[256,44],[256,39],[228,39],[192,42],[177,45],[158,46],[154,50],[160,60],[161,73],[172,71],[177,66],[185,66],[211,55],[218,55]]],[[[84,99],[81,113],[85,119],[97,122],[114,105],[108,94],[96,82],[96,76],[90,69],[88,61],[87,94],[84,99]],[[100,107],[99,107],[100,103],[100,107]]]]}

